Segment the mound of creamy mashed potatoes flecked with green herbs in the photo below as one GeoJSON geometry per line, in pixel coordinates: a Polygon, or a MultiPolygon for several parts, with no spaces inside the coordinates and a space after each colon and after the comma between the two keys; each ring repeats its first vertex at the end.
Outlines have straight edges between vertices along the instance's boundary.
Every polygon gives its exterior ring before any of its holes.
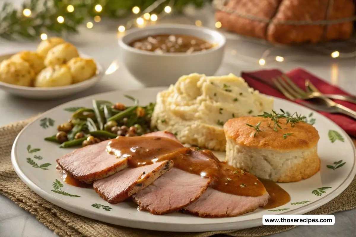
{"type": "Polygon", "coordinates": [[[233,74],[190,74],[158,93],[151,125],[172,132],[182,143],[225,151],[223,125],[228,119],[272,109],[273,99],[233,74]]]}

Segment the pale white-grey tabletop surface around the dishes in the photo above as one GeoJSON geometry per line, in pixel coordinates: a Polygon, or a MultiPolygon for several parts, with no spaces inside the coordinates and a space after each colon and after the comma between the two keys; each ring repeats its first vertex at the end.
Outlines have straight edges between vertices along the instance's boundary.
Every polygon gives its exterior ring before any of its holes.
{"type": "MultiPolygon", "coordinates": [[[[195,20],[203,21],[204,25],[213,26],[210,9],[195,12],[194,17],[174,17],[164,19],[161,22],[192,23],[195,20]],[[208,12],[207,12],[208,11],[208,12]]],[[[99,23],[94,28],[83,28],[80,34],[67,38],[78,49],[93,56],[99,63],[107,68],[112,61],[120,60],[117,53],[117,26],[119,21],[99,23]]],[[[252,71],[261,68],[279,68],[284,71],[302,67],[320,78],[340,86],[346,91],[356,93],[355,58],[342,59],[331,58],[328,55],[318,57],[310,56],[310,51],[300,52],[290,48],[272,48],[273,55],[285,56],[284,62],[267,60],[266,65],[260,66],[258,59],[268,49],[267,45],[256,42],[248,42],[246,39],[226,34],[228,38],[226,53],[221,68],[216,75],[224,75],[230,72],[240,75],[241,71],[252,71]]],[[[19,50],[34,49],[38,42],[6,42],[0,41],[0,53],[10,53],[19,50]]],[[[315,55],[314,53],[312,55],[315,55]]],[[[0,126],[18,120],[29,118],[40,112],[44,112],[64,102],[83,96],[112,90],[129,90],[142,88],[129,72],[119,63],[119,68],[104,78],[93,88],[78,93],[78,95],[53,101],[31,101],[14,97],[0,91],[0,126]]],[[[49,237],[56,236],[46,226],[42,225],[35,216],[19,208],[5,196],[0,196],[0,237],[49,237]]],[[[342,211],[335,214],[333,226],[299,226],[292,230],[272,235],[273,237],[332,237],[355,236],[355,210],[342,211]]]]}

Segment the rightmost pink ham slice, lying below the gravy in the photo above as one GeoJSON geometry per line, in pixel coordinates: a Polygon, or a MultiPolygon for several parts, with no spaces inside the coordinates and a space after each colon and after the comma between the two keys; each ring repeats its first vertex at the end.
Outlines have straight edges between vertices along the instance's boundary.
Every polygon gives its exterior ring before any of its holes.
{"type": "Polygon", "coordinates": [[[269,195],[237,196],[208,188],[194,203],[186,206],[184,212],[199,217],[232,217],[245,214],[265,206],[269,195]]]}

